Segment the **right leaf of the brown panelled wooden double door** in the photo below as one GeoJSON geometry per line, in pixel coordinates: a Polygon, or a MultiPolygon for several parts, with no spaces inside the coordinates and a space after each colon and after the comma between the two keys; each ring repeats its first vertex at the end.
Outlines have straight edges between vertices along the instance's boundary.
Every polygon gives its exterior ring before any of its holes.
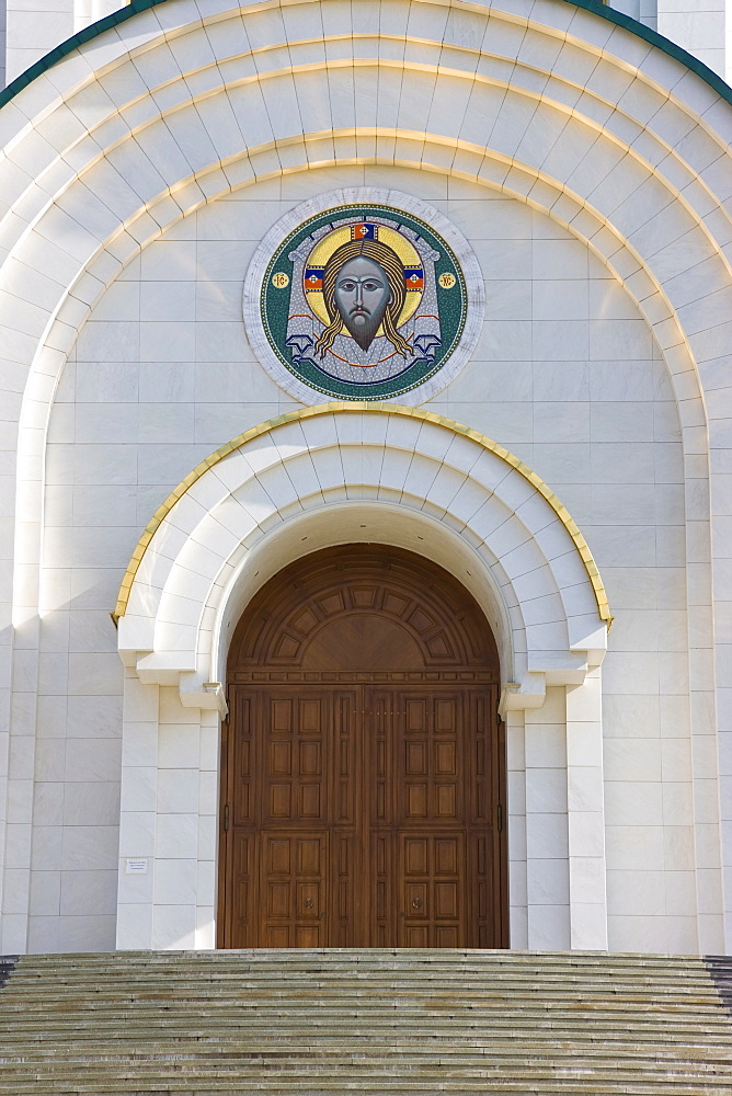
{"type": "Polygon", "coordinates": [[[494,836],[485,817],[492,715],[482,692],[397,687],[374,689],[366,700],[374,783],[382,789],[370,819],[371,846],[384,861],[373,870],[379,945],[474,947],[488,946],[488,936],[499,943],[490,865],[481,863],[494,836]]]}

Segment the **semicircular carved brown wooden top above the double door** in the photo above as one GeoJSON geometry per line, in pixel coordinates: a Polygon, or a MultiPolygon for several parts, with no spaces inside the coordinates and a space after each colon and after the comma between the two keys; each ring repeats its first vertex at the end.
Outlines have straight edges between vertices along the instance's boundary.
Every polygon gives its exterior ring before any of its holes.
{"type": "Polygon", "coordinates": [[[239,621],[228,666],[231,682],[425,672],[497,681],[488,621],[443,568],[368,544],[313,552],[271,579],[239,621]]]}

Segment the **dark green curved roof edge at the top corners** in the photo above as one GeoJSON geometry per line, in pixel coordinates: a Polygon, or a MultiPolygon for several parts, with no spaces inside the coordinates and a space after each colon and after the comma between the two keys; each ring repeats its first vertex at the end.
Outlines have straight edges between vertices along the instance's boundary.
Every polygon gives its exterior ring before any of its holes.
{"type": "MultiPolygon", "coordinates": [[[[56,46],[49,53],[45,54],[37,61],[31,65],[30,68],[21,72],[20,76],[15,77],[3,91],[0,92],[0,107],[9,103],[20,91],[25,88],[26,84],[31,83],[36,77],[41,76],[47,69],[55,65],[56,61],[61,60],[68,54],[72,53],[78,46],[83,45],[84,42],[89,42],[90,38],[96,37],[98,34],[103,34],[104,31],[110,31],[113,26],[119,26],[121,23],[126,22],[126,20],[131,19],[137,15],[140,11],[147,11],[148,8],[156,8],[159,3],[165,3],[167,0],[131,0],[131,3],[127,4],[125,8],[121,8],[119,11],[112,12],[111,15],[105,15],[103,19],[98,20],[95,23],[90,23],[82,31],[77,34],[72,34],[70,38],[66,42],[61,42],[60,45],[56,46]]],[[[673,57],[674,60],[680,61],[682,65],[686,65],[693,72],[695,72],[701,80],[709,84],[718,95],[725,99],[728,103],[732,104],[732,88],[727,83],[721,76],[713,72],[709,66],[700,61],[698,57],[694,57],[686,49],[677,46],[670,38],[665,38],[657,31],[652,31],[650,26],[644,26],[643,23],[639,23],[638,20],[632,19],[630,15],[626,15],[621,11],[616,11],[614,8],[608,8],[606,4],[598,2],[598,0],[564,0],[565,3],[573,3],[575,8],[584,8],[585,11],[591,11],[594,15],[599,15],[601,19],[606,19],[610,23],[615,23],[617,26],[622,26],[626,31],[630,31],[632,34],[637,34],[639,38],[644,38],[645,42],[650,43],[652,46],[657,46],[659,49],[663,49],[665,54],[673,57]]]]}

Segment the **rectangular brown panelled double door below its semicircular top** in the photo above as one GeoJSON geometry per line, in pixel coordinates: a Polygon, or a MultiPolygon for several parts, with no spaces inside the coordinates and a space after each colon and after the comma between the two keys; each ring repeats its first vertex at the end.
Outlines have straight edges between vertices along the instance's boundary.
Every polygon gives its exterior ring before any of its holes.
{"type": "Polygon", "coordinates": [[[225,947],[505,946],[493,684],[232,684],[225,947]]]}

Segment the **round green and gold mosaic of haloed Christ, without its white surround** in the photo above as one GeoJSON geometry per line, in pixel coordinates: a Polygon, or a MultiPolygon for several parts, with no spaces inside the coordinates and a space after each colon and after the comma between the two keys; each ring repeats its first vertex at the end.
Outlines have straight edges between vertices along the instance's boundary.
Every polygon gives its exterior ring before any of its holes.
{"type": "Polygon", "coordinates": [[[448,362],[468,293],[435,229],[364,202],[327,209],[282,240],[260,309],[271,350],[298,381],[336,399],[391,400],[448,362]]]}

